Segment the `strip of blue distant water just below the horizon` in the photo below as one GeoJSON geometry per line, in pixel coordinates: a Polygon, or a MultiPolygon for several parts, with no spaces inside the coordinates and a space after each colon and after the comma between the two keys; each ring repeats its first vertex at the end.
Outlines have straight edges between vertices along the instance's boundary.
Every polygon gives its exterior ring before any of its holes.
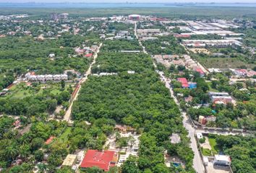
{"type": "Polygon", "coordinates": [[[187,6],[246,6],[256,7],[255,4],[108,4],[108,3],[0,3],[0,8],[168,8],[168,7],[187,7],[187,6]]]}

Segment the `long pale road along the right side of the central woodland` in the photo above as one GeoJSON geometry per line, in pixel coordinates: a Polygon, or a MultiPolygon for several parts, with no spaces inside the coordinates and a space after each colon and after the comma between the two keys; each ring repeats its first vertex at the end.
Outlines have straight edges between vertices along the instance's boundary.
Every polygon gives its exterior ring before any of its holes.
{"type": "MultiPolygon", "coordinates": [[[[135,36],[137,37],[137,23],[136,22],[135,22],[135,36]]],[[[139,43],[143,48],[143,53],[148,54],[148,52],[145,50],[145,47],[142,45],[140,40],[139,40],[139,43]]],[[[156,66],[154,61],[153,61],[153,64],[156,68],[157,66],[156,66]]],[[[174,98],[174,101],[179,106],[179,102],[176,99],[176,97],[174,96],[174,91],[171,89],[171,86],[170,86],[171,80],[166,78],[165,76],[163,76],[163,72],[161,72],[161,71],[157,71],[157,72],[161,76],[161,81],[163,81],[166,84],[166,88],[168,88],[170,90],[171,97],[174,98]]],[[[195,129],[192,127],[192,125],[190,125],[188,117],[186,115],[186,112],[183,112],[182,109],[180,109],[180,108],[179,108],[179,110],[182,112],[182,117],[183,117],[182,123],[183,123],[184,127],[189,132],[189,138],[190,138],[190,141],[191,141],[190,147],[192,148],[192,151],[194,151],[194,154],[195,154],[194,159],[193,159],[193,167],[194,167],[194,169],[197,173],[204,173],[205,172],[205,167],[203,167],[202,159],[200,157],[200,152],[197,149],[197,141],[195,140],[195,129]]]]}

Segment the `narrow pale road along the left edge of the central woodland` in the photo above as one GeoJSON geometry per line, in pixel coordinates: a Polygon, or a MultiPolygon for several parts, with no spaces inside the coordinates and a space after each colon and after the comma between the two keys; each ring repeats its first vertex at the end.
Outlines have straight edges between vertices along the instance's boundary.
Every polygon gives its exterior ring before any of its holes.
{"type": "Polygon", "coordinates": [[[90,75],[90,74],[92,73],[91,69],[92,69],[93,64],[96,62],[96,58],[98,57],[98,53],[99,53],[99,51],[100,51],[101,46],[102,46],[102,43],[101,43],[101,45],[98,47],[98,50],[97,50],[97,52],[95,53],[95,56],[93,57],[93,62],[90,63],[90,66],[89,66],[89,68],[88,68],[88,71],[86,71],[86,73],[85,73],[85,77],[83,77],[83,78],[79,81],[79,84],[78,84],[78,86],[77,86],[77,87],[78,87],[77,93],[76,93],[76,94],[74,95],[74,97],[72,98],[72,101],[71,101],[71,104],[70,104],[70,106],[69,106],[69,109],[67,110],[66,114],[64,115],[63,120],[66,120],[66,121],[69,121],[69,120],[70,120],[73,102],[74,102],[75,99],[77,99],[77,96],[78,96],[78,94],[79,94],[79,92],[80,92],[82,83],[84,83],[84,82],[88,79],[88,75],[90,75]]]}

